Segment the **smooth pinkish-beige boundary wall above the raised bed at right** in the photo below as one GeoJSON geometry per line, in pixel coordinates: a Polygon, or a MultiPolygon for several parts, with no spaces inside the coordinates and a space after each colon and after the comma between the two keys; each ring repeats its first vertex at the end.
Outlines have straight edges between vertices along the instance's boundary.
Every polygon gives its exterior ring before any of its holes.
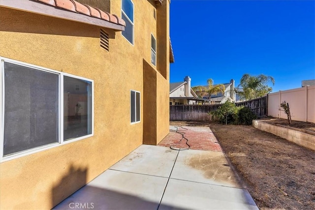
{"type": "Polygon", "coordinates": [[[289,104],[291,119],[315,122],[315,86],[278,91],[268,94],[268,115],[275,118],[287,119],[280,104],[289,104]]]}

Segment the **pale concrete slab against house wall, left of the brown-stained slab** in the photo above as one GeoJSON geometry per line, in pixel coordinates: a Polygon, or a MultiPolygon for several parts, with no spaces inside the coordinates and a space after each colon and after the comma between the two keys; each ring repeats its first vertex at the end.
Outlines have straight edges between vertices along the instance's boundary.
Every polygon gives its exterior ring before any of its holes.
{"type": "Polygon", "coordinates": [[[169,177],[178,151],[141,145],[110,169],[158,177],[169,177]],[[167,160],[167,161],[165,161],[167,160]]]}

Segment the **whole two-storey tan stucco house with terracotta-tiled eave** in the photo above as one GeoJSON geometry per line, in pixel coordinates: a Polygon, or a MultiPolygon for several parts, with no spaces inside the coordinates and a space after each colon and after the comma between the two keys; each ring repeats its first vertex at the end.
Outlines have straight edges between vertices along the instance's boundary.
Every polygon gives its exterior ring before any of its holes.
{"type": "Polygon", "coordinates": [[[0,23],[0,209],[52,209],[168,134],[168,0],[0,0],[0,23]]]}

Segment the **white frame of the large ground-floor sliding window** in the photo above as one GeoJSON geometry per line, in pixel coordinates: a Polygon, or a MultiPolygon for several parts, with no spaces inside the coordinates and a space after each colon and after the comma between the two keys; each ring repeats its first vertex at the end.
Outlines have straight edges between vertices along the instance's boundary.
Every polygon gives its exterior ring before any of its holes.
{"type": "Polygon", "coordinates": [[[80,77],[80,76],[76,76],[73,74],[64,73],[61,71],[56,71],[56,70],[45,68],[42,66],[33,65],[30,63],[25,63],[25,62],[18,61],[18,60],[12,60],[12,59],[8,59],[8,58],[4,58],[4,57],[0,57],[0,79],[1,79],[1,84],[0,84],[0,116],[1,116],[1,118],[0,118],[0,162],[5,162],[8,160],[12,160],[12,159],[15,159],[18,157],[26,156],[26,155],[29,155],[29,154],[32,154],[35,152],[48,150],[48,149],[55,148],[55,147],[58,147],[58,146],[61,146],[64,144],[72,143],[75,141],[79,141],[79,140],[94,136],[94,80],[87,79],[87,78],[80,77]],[[59,125],[58,126],[59,127],[59,129],[58,129],[59,141],[58,142],[52,143],[49,145],[39,146],[39,147],[32,148],[29,150],[23,150],[23,151],[16,152],[14,154],[10,154],[10,155],[3,157],[3,149],[4,149],[3,148],[3,143],[4,143],[4,103],[5,103],[5,101],[4,101],[4,77],[3,77],[4,62],[9,62],[9,63],[17,64],[20,66],[25,66],[28,68],[32,68],[32,69],[36,69],[36,70],[45,71],[45,72],[54,73],[54,74],[59,75],[59,91],[58,91],[58,93],[59,93],[59,103],[58,103],[58,106],[59,106],[59,111],[58,111],[58,113],[59,113],[59,115],[58,115],[58,118],[59,118],[59,124],[58,124],[59,125]],[[92,90],[91,90],[92,91],[92,107],[91,107],[91,109],[92,109],[91,132],[92,133],[85,135],[85,136],[78,137],[78,138],[74,138],[71,140],[66,140],[66,141],[63,140],[63,76],[68,76],[68,77],[72,77],[72,78],[76,78],[76,79],[89,81],[89,82],[91,82],[91,88],[92,88],[92,90]]]}

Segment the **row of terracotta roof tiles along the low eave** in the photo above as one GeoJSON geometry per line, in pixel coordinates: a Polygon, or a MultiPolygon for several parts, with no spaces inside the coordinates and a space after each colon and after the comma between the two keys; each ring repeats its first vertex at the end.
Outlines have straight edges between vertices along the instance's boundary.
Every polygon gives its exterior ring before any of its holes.
{"type": "Polygon", "coordinates": [[[98,8],[93,8],[87,4],[81,4],[75,0],[37,0],[51,6],[63,8],[68,11],[88,15],[98,19],[102,19],[117,25],[125,26],[126,23],[123,19],[119,18],[117,15],[109,14],[98,8]]]}

